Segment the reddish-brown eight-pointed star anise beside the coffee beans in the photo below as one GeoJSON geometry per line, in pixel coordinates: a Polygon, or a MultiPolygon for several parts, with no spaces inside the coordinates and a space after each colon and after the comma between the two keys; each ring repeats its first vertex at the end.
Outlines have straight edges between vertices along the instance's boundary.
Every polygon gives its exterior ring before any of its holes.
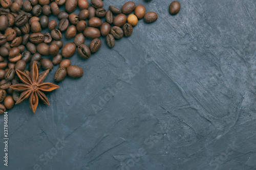
{"type": "Polygon", "coordinates": [[[42,83],[45,80],[46,76],[48,75],[49,71],[50,69],[45,70],[44,72],[41,72],[41,74],[38,75],[38,67],[35,61],[31,67],[30,76],[27,75],[25,72],[16,69],[16,74],[24,84],[20,83],[20,84],[14,84],[10,86],[10,88],[12,88],[13,90],[23,91],[20,94],[19,99],[15,104],[22,103],[24,100],[30,97],[29,98],[30,108],[35,113],[35,110],[38,105],[38,96],[39,96],[39,98],[45,104],[50,105],[44,91],[52,91],[52,90],[55,90],[56,88],[59,88],[59,86],[53,83],[42,83]]]}

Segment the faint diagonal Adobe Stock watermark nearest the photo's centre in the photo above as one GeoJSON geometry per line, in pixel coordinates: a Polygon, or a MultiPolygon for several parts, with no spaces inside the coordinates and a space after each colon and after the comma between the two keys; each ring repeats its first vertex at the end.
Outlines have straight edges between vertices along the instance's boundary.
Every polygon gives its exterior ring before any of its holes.
{"type": "Polygon", "coordinates": [[[92,104],[91,107],[95,114],[103,109],[106,103],[108,103],[115,95],[117,95],[120,90],[124,88],[124,82],[130,83],[131,80],[140,72],[141,68],[145,67],[147,63],[151,61],[151,56],[145,55],[141,58],[137,65],[133,66],[132,69],[127,69],[122,76],[120,81],[118,81],[114,87],[106,88],[106,92],[99,96],[99,101],[97,104],[92,104]]]}

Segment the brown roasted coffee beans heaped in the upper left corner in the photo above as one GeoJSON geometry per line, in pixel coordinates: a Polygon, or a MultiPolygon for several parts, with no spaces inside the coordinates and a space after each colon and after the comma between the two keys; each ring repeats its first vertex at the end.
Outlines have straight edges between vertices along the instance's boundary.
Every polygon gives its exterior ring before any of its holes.
{"type": "MultiPolygon", "coordinates": [[[[150,1],[150,0],[148,0],[150,1]]],[[[11,109],[18,100],[20,92],[9,87],[20,83],[15,69],[30,75],[32,61],[38,69],[50,69],[59,65],[54,80],[60,82],[68,75],[79,78],[82,68],[71,65],[70,57],[76,50],[83,59],[88,59],[101,47],[101,37],[112,48],[116,39],[129,37],[139,19],[146,23],[157,20],[155,12],[147,12],[143,5],[127,2],[121,9],[109,6],[103,8],[102,0],[1,0],[0,4],[0,114],[11,109]],[[65,6],[66,11],[59,7],[65,6]],[[79,14],[73,13],[77,8],[79,14]],[[133,13],[133,14],[132,14],[133,13]],[[59,19],[49,20],[50,15],[59,19]],[[48,28],[50,32],[42,33],[48,28]],[[65,34],[62,34],[65,33],[65,34]],[[62,36],[74,42],[63,44],[62,36]],[[92,39],[89,45],[86,38],[92,39]],[[52,56],[52,60],[44,58],[52,56]],[[28,68],[28,70],[26,70],[28,68]]],[[[169,12],[179,12],[180,4],[173,2],[169,12]]]]}

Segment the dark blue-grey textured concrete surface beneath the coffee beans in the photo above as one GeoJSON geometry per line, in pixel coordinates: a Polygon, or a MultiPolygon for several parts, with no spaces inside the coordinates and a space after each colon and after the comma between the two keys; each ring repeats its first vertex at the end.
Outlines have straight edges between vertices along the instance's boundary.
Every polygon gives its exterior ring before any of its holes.
{"type": "Polygon", "coordinates": [[[158,20],[76,53],[84,75],[58,83],[50,106],[8,111],[0,169],[256,169],[255,1],[180,0],[175,16],[171,1],[134,2],[158,20]]]}

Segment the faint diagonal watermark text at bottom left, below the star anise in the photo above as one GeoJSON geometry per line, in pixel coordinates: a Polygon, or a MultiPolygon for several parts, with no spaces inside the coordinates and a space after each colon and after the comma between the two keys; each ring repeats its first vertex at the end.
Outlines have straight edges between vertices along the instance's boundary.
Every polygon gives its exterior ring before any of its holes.
{"type": "MultiPolygon", "coordinates": [[[[57,138],[57,140],[58,141],[55,143],[54,147],[52,147],[49,151],[39,156],[39,160],[41,162],[40,164],[47,165],[49,161],[53,159],[53,157],[56,156],[59,153],[59,151],[61,151],[69,142],[64,137],[62,137],[61,139],[57,138]]],[[[40,164],[35,164],[33,166],[33,170],[45,169],[45,168],[42,168],[40,164]]]]}

